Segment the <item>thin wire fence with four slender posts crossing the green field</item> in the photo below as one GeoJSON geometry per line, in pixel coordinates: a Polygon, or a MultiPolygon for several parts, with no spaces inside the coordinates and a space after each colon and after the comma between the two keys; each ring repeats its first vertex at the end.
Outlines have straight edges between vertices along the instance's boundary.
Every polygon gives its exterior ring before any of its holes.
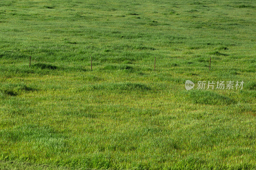
{"type": "Polygon", "coordinates": [[[38,64],[46,64],[46,67],[47,64],[56,67],[84,67],[91,71],[106,66],[141,67],[154,71],[163,69],[203,69],[209,71],[229,69],[255,72],[256,70],[256,57],[59,57],[51,59],[29,57],[28,59],[2,59],[1,62],[3,65],[20,63],[28,67],[34,67],[38,64]]]}

